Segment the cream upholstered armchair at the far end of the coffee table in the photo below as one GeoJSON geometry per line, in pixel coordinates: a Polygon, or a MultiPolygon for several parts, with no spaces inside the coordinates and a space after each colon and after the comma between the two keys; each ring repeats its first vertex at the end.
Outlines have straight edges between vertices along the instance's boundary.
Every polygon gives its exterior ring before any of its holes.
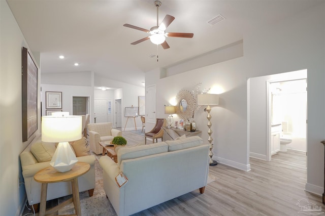
{"type": "Polygon", "coordinates": [[[90,123],[87,126],[89,131],[90,150],[95,154],[102,154],[101,141],[112,141],[114,137],[122,136],[122,132],[113,128],[112,122],[90,123]]]}

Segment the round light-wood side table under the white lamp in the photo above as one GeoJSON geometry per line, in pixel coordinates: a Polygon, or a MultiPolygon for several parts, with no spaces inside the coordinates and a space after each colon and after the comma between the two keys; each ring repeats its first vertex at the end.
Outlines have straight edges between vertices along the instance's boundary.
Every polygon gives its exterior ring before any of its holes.
{"type": "Polygon", "coordinates": [[[44,168],[37,172],[34,176],[35,181],[42,183],[41,191],[41,203],[40,203],[40,212],[39,215],[43,216],[45,214],[51,214],[61,209],[63,206],[66,206],[73,202],[75,206],[74,215],[81,216],[81,206],[79,198],[79,187],[78,187],[78,177],[84,175],[89,171],[90,165],[85,162],[77,162],[70,171],[67,172],[58,172],[52,166],[44,168]],[[46,210],[46,194],[47,194],[47,184],[56,183],[56,182],[71,182],[72,184],[72,198],[67,201],[62,202],[61,204],[46,210]]]}

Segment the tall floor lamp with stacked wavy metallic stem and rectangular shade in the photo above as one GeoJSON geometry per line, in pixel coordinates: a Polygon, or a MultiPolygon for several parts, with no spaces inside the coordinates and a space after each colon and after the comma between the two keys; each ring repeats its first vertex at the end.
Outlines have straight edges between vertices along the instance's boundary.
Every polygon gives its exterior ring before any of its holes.
{"type": "Polygon", "coordinates": [[[208,112],[207,118],[208,118],[208,127],[209,127],[209,129],[208,129],[208,135],[209,135],[208,141],[210,143],[210,152],[209,152],[210,166],[215,166],[215,165],[218,164],[217,161],[212,160],[212,156],[213,156],[213,153],[212,153],[212,148],[213,148],[212,140],[213,139],[211,137],[212,123],[210,121],[210,119],[211,119],[211,114],[210,114],[211,107],[210,107],[210,105],[218,105],[218,104],[219,104],[219,96],[216,95],[216,94],[201,94],[201,95],[198,95],[198,105],[208,105],[205,110],[208,112]]]}

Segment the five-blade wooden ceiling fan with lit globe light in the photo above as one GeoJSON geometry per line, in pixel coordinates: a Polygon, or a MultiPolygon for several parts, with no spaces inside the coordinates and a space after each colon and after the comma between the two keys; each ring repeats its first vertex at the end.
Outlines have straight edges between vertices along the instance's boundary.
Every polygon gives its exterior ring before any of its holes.
{"type": "Polygon", "coordinates": [[[193,33],[178,33],[178,32],[165,33],[166,28],[173,22],[175,17],[173,17],[171,15],[166,15],[163,22],[161,22],[161,24],[158,25],[158,8],[159,8],[159,6],[161,6],[161,2],[160,1],[155,1],[154,5],[157,8],[157,25],[150,28],[150,30],[140,28],[138,26],[134,26],[134,25],[130,25],[130,24],[124,24],[123,25],[123,26],[128,27],[128,28],[134,28],[134,29],[137,29],[137,30],[140,30],[140,31],[144,31],[144,32],[146,32],[148,34],[151,34],[151,36],[144,37],[144,38],[142,38],[140,40],[137,40],[137,41],[131,43],[132,45],[137,45],[140,42],[143,42],[143,41],[145,41],[147,39],[150,39],[153,44],[156,44],[156,45],[161,44],[161,46],[164,49],[168,49],[170,47],[166,42],[166,37],[187,37],[187,38],[192,38],[193,37],[193,35],[194,35],[193,33]]]}

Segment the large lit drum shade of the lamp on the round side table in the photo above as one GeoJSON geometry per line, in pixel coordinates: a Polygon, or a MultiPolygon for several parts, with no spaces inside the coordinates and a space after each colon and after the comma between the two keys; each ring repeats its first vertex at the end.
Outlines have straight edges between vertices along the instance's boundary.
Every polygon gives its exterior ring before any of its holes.
{"type": "Polygon", "coordinates": [[[69,142],[81,139],[81,115],[42,116],[42,141],[69,142]]]}

